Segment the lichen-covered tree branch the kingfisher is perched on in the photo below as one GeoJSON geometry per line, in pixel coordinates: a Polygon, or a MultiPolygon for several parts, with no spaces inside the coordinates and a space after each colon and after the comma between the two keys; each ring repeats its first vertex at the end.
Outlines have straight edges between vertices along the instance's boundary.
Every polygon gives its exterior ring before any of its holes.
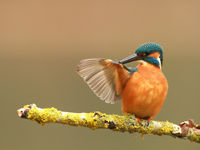
{"type": "Polygon", "coordinates": [[[101,112],[72,113],[59,111],[56,108],[39,108],[35,104],[26,105],[17,110],[21,118],[35,120],[41,125],[46,123],[61,123],[70,126],[83,126],[90,129],[111,129],[113,131],[139,132],[142,134],[169,135],[200,143],[200,125],[192,120],[178,125],[168,121],[142,120],[141,124],[133,115],[107,115],[101,112]]]}

